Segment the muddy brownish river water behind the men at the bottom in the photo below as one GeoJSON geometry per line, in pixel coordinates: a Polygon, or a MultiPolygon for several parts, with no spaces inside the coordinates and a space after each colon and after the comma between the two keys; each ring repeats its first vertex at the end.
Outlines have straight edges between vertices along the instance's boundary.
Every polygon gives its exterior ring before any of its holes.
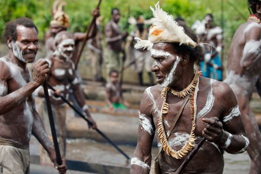
{"type": "MultiPolygon", "coordinates": [[[[135,147],[128,145],[119,146],[127,155],[132,156],[135,147]]],[[[152,158],[157,155],[158,149],[152,148],[152,158]]],[[[114,149],[110,144],[98,143],[89,139],[67,140],[67,158],[71,160],[103,164],[117,167],[130,167],[130,161],[114,149]]],[[[248,174],[250,158],[243,154],[224,154],[225,167],[223,174],[248,174]]]]}

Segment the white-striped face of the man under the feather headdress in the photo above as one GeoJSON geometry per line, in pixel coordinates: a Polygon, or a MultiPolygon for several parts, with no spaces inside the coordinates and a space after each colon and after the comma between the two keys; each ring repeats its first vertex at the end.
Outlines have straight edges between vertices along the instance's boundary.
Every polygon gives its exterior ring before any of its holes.
{"type": "Polygon", "coordinates": [[[180,58],[175,54],[171,43],[155,43],[151,49],[154,63],[151,71],[155,73],[156,82],[162,87],[170,87],[175,81],[175,72],[180,58]]]}

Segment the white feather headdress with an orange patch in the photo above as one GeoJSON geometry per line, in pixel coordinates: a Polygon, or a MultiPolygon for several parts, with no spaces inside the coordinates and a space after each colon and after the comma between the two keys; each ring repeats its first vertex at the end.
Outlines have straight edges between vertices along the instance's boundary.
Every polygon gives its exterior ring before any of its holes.
{"type": "Polygon", "coordinates": [[[148,40],[134,38],[137,41],[134,46],[136,49],[146,48],[150,50],[153,43],[159,42],[176,42],[180,43],[180,45],[197,46],[197,43],[185,34],[184,28],[178,25],[173,16],[160,8],[159,2],[155,4],[155,9],[151,6],[150,9],[154,17],[152,18],[153,23],[150,26],[148,40]]]}

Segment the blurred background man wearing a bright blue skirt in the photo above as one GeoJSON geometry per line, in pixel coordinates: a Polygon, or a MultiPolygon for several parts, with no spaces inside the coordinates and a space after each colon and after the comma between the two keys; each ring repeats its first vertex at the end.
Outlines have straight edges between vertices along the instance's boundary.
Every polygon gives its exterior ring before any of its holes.
{"type": "Polygon", "coordinates": [[[204,77],[222,81],[222,63],[220,54],[222,52],[222,28],[213,25],[212,14],[206,14],[203,20],[205,22],[205,42],[209,45],[205,46],[204,61],[200,63],[202,74],[204,77]],[[214,47],[214,49],[213,49],[214,47]],[[211,50],[213,50],[211,55],[211,50]]]}

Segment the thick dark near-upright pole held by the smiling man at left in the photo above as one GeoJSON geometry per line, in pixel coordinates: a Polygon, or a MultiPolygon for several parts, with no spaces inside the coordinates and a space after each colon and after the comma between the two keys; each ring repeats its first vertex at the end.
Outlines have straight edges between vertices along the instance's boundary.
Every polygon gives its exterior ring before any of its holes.
{"type": "Polygon", "coordinates": [[[48,117],[49,117],[52,137],[53,137],[53,141],[54,141],[54,146],[55,146],[56,162],[58,165],[62,165],[62,158],[61,158],[61,154],[60,154],[59,144],[57,141],[54,116],[53,116],[53,112],[52,112],[52,108],[51,108],[51,102],[50,102],[50,98],[49,98],[48,87],[47,87],[46,81],[44,82],[43,86],[44,86],[44,94],[45,94],[45,100],[46,100],[46,105],[47,105],[48,117]]]}

